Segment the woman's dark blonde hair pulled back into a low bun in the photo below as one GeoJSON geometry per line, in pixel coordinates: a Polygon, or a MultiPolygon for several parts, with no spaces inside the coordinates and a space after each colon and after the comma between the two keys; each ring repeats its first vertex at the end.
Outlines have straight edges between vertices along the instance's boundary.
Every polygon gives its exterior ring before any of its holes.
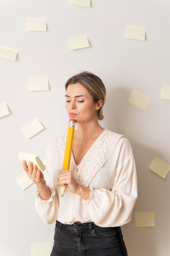
{"type": "Polygon", "coordinates": [[[103,120],[103,106],[106,102],[106,88],[99,76],[88,71],[78,73],[66,81],[66,90],[68,85],[71,83],[81,83],[93,97],[93,103],[96,103],[99,99],[103,100],[102,107],[97,110],[97,119],[103,120]]]}

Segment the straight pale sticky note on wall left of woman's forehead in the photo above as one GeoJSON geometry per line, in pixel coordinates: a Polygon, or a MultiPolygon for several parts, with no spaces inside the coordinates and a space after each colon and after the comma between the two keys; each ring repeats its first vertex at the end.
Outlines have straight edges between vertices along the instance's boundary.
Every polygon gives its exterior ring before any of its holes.
{"type": "Polygon", "coordinates": [[[30,76],[28,78],[29,91],[48,91],[48,76],[30,76]]]}

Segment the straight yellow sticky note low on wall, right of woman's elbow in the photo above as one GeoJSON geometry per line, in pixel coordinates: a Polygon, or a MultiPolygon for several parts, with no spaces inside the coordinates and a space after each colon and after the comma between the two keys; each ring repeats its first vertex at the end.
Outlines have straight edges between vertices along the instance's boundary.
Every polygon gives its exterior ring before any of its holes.
{"type": "Polygon", "coordinates": [[[135,212],[135,227],[155,227],[155,213],[135,212]]]}

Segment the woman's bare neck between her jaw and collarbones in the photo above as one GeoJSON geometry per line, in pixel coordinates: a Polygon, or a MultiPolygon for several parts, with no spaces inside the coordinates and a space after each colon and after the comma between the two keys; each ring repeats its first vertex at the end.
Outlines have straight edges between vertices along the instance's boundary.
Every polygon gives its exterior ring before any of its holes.
{"type": "Polygon", "coordinates": [[[75,138],[76,139],[90,139],[99,137],[99,135],[104,131],[99,125],[98,120],[92,121],[88,123],[77,123],[77,130],[75,131],[75,138]]]}

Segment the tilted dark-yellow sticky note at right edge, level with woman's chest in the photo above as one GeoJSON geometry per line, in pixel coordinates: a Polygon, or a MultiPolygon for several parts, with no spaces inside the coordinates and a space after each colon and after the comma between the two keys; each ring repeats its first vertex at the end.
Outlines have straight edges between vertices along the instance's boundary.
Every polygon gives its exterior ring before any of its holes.
{"type": "Polygon", "coordinates": [[[166,178],[166,175],[170,171],[170,164],[167,164],[158,157],[155,157],[150,165],[150,170],[154,173],[157,173],[163,179],[166,178]]]}

